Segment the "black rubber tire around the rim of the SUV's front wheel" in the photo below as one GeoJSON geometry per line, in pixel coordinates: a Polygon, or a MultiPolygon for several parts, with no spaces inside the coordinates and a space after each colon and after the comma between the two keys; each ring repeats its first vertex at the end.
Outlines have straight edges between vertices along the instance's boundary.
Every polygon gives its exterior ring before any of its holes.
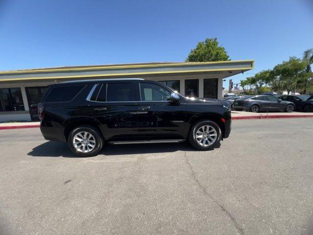
{"type": "MultiPolygon", "coordinates": [[[[212,130],[209,128],[209,130],[212,130]]],[[[207,132],[211,132],[211,131],[207,131],[207,132]]],[[[214,134],[214,132],[211,132],[211,134],[214,134]]],[[[207,138],[210,138],[210,137],[207,137],[207,138]]],[[[213,136],[214,138],[214,136],[213,136]]],[[[189,134],[188,134],[188,141],[190,142],[190,144],[195,147],[196,149],[199,149],[199,150],[211,150],[213,149],[217,144],[220,143],[221,141],[221,138],[222,138],[222,131],[221,131],[221,128],[218,124],[216,124],[214,121],[210,121],[210,120],[200,120],[196,123],[194,123],[190,130],[189,130],[189,134]],[[207,145],[207,146],[204,146],[204,145],[201,145],[197,140],[196,140],[196,132],[198,131],[198,129],[202,126],[210,126],[212,128],[214,128],[215,132],[216,132],[216,139],[213,143],[211,143],[210,145],[207,145]]],[[[206,140],[206,139],[205,139],[206,140]]],[[[209,139],[207,139],[209,141],[209,139]]],[[[209,143],[207,141],[207,143],[209,143]]],[[[206,143],[206,142],[205,142],[206,143]]]]}

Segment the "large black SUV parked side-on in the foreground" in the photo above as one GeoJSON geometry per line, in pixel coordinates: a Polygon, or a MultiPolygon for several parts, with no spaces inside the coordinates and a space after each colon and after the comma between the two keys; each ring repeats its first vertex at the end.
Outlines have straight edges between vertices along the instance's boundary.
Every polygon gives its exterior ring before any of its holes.
{"type": "Polygon", "coordinates": [[[46,140],[67,142],[78,156],[97,154],[104,143],[163,143],[188,139],[214,148],[230,132],[229,105],[186,98],[143,79],[63,82],[49,86],[38,105],[46,140]]]}

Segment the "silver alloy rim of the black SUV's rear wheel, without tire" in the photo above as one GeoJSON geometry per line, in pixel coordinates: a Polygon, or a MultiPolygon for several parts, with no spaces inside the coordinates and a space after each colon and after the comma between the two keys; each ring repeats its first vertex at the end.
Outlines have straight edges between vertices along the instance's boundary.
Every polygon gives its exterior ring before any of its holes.
{"type": "Polygon", "coordinates": [[[94,137],[86,131],[78,132],[73,138],[73,145],[78,152],[89,153],[91,152],[95,145],[96,141],[94,137]]]}

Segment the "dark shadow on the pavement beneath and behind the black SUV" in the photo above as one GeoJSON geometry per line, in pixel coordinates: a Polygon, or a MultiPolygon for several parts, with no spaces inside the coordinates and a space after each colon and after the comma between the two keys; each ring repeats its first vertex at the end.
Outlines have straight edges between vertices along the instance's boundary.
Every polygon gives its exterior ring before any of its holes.
{"type": "MultiPolygon", "coordinates": [[[[220,147],[220,143],[216,148],[220,147]]],[[[149,154],[149,153],[165,153],[176,151],[197,151],[187,141],[181,143],[145,143],[145,144],[123,144],[111,145],[106,144],[98,155],[113,156],[113,155],[129,155],[129,154],[149,154]]],[[[75,158],[66,143],[47,141],[32,149],[28,156],[33,157],[65,157],[75,158]]]]}

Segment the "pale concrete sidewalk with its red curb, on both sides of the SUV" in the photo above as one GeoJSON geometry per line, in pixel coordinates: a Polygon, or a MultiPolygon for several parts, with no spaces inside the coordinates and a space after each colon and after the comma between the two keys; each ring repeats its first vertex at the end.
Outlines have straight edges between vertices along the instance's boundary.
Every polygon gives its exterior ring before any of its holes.
{"type": "MultiPolygon", "coordinates": [[[[236,120],[236,119],[261,119],[261,118],[313,118],[313,113],[302,113],[302,112],[252,113],[252,112],[246,112],[246,111],[231,111],[231,118],[233,120],[236,120]]],[[[7,122],[7,123],[0,123],[0,130],[34,128],[34,127],[39,127],[39,126],[40,126],[40,121],[7,122]]]]}

